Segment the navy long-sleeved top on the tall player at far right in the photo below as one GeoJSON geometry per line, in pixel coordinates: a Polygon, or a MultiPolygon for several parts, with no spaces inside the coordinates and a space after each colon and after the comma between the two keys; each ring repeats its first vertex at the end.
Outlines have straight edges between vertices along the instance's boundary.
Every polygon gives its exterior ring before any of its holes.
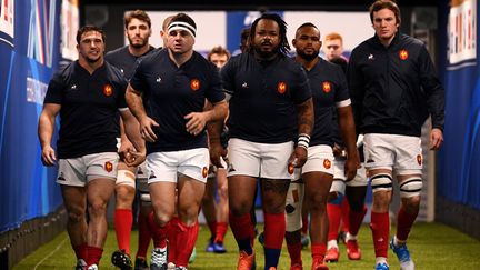
{"type": "Polygon", "coordinates": [[[397,32],[386,48],[376,34],[352,50],[347,79],[359,132],[420,137],[429,116],[443,130],[444,89],[422,41],[397,32]]]}

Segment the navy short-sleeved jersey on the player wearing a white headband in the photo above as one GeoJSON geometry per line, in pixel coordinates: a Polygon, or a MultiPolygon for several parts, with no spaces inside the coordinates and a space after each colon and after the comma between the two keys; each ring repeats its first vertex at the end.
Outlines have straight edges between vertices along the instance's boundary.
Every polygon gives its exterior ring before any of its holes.
{"type": "Polygon", "coordinates": [[[130,84],[143,93],[147,114],[160,124],[153,128],[157,141],[147,143],[148,153],[207,147],[206,132],[187,132],[184,116],[203,111],[206,98],[211,103],[224,100],[217,67],[198,52],[177,67],[168,50],[157,49],[142,59],[130,84]]]}

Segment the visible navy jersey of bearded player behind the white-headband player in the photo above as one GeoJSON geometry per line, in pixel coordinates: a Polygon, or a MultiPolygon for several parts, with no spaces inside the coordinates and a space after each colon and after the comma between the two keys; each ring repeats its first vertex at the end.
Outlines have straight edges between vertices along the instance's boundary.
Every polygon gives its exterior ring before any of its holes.
{"type": "Polygon", "coordinates": [[[136,57],[130,53],[128,50],[128,46],[118,48],[113,51],[107,52],[104,59],[120,69],[127,80],[132,78],[134,70],[138,66],[138,61],[141,60],[142,57],[148,56],[150,52],[154,50],[153,47],[150,46],[149,50],[141,57],[136,57]]]}

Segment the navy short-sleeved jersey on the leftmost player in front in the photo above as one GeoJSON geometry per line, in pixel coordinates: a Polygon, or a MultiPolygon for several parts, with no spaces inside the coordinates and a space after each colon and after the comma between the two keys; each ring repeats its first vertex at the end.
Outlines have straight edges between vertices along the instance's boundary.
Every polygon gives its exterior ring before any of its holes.
{"type": "Polygon", "coordinates": [[[127,80],[108,62],[90,74],[74,61],[53,76],[43,102],[61,106],[60,159],[117,152],[118,110],[127,109],[126,89],[127,80]]]}

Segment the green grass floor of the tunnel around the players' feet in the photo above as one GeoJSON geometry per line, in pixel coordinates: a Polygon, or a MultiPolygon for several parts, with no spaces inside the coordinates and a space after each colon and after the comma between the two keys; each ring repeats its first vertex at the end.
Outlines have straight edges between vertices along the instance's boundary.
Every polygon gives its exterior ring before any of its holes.
{"type": "MultiPolygon", "coordinates": [[[[197,241],[197,260],[190,264],[189,269],[234,269],[238,259],[237,246],[231,231],[228,232],[226,244],[228,248],[224,254],[214,254],[204,252],[209,238],[207,227],[200,228],[199,239],[197,241]]],[[[330,269],[373,269],[374,256],[371,233],[368,226],[363,226],[359,236],[360,247],[362,250],[362,260],[349,261],[346,254],[344,246],[340,246],[340,260],[337,263],[330,263],[330,269]]],[[[132,252],[137,251],[137,231],[132,232],[132,252]]],[[[459,232],[452,228],[440,223],[417,223],[409,238],[409,249],[417,264],[417,269],[480,269],[479,251],[480,241],[459,232]]],[[[103,258],[100,263],[101,269],[114,269],[110,263],[110,256],[117,248],[114,232],[109,231],[104,247],[103,258]]],[[[263,268],[263,251],[261,246],[256,242],[257,266],[263,268]]],[[[389,251],[390,269],[399,269],[399,263],[394,254],[389,251]]],[[[310,269],[310,249],[302,252],[303,267],[310,269]]],[[[51,242],[42,246],[32,254],[24,258],[13,269],[73,269],[74,254],[66,232],[58,236],[51,242]]],[[[279,269],[289,269],[289,257],[286,246],[280,258],[279,269]]]]}

